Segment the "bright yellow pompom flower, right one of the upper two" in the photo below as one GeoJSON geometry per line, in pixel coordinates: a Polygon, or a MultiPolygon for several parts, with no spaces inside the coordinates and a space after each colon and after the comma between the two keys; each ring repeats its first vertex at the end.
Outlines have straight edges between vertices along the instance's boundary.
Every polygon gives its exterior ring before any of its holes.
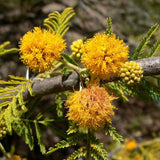
{"type": "Polygon", "coordinates": [[[90,70],[90,74],[100,79],[118,76],[123,63],[128,60],[128,46],[123,40],[97,33],[84,44],[85,52],[82,63],[90,70]]]}

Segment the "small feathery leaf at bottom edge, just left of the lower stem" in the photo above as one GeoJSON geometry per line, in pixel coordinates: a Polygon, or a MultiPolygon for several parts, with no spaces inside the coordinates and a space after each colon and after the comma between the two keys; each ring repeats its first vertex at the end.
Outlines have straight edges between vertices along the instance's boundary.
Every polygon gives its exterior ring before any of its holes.
{"type": "Polygon", "coordinates": [[[77,151],[75,151],[74,153],[72,153],[72,155],[70,155],[67,158],[67,160],[73,160],[73,159],[77,159],[77,158],[80,158],[80,157],[85,157],[86,153],[87,153],[86,147],[81,147],[77,151]]]}

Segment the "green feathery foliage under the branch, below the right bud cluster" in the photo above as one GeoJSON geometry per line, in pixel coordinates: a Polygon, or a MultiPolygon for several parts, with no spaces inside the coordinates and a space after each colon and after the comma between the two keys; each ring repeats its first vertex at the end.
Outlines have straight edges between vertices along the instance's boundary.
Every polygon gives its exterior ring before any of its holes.
{"type": "Polygon", "coordinates": [[[120,97],[124,102],[128,101],[127,96],[136,96],[145,101],[160,100],[160,83],[159,77],[145,77],[141,79],[141,82],[129,86],[122,81],[109,82],[106,86],[111,89],[116,96],[120,97]],[[149,80],[150,79],[150,80],[149,80]],[[152,79],[152,80],[151,80],[152,79]],[[154,82],[157,81],[155,84],[154,82]]]}

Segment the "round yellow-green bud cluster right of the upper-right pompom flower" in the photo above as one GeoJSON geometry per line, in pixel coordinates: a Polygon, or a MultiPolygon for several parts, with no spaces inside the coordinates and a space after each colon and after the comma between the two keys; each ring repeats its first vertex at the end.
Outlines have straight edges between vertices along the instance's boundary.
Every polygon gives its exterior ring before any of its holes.
{"type": "Polygon", "coordinates": [[[126,62],[120,70],[120,77],[128,85],[138,83],[143,77],[143,69],[134,61],[126,62]]]}

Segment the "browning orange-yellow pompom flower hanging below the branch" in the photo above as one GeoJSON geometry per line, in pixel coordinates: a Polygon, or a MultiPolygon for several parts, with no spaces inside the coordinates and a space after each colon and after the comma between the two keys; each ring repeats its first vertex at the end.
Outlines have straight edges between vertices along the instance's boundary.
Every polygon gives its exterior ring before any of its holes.
{"type": "Polygon", "coordinates": [[[111,123],[115,108],[111,102],[114,99],[103,87],[91,86],[75,91],[66,101],[67,117],[83,128],[102,129],[106,122],[111,123]]]}

